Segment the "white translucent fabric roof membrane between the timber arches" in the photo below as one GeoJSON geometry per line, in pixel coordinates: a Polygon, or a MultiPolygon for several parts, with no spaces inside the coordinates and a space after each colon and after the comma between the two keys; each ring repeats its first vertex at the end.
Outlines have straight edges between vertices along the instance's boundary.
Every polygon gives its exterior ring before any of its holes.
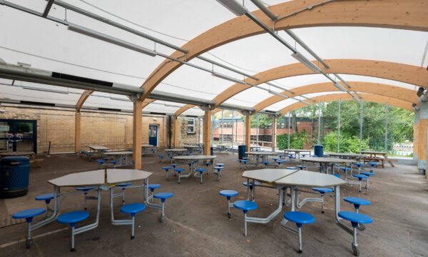
{"type": "MultiPolygon", "coordinates": [[[[46,1],[44,0],[10,1],[40,12],[43,12],[46,6],[46,1]]],[[[213,26],[235,18],[234,14],[215,0],[64,1],[155,36],[158,39],[168,41],[176,46],[183,46],[186,41],[213,28],[213,26]]],[[[265,4],[273,5],[284,1],[265,0],[264,2],[265,4]]],[[[245,6],[250,11],[257,9],[249,0],[245,0],[245,6]]],[[[73,11],[65,11],[55,4],[49,15],[58,19],[65,19],[66,15],[67,21],[73,24],[85,26],[148,49],[156,48],[156,51],[163,54],[171,54],[174,51],[160,44],[155,46],[152,41],[121,31],[81,14],[76,14],[73,11]]],[[[136,51],[83,36],[73,31],[68,31],[66,26],[62,24],[56,24],[54,21],[26,14],[23,11],[11,9],[7,6],[0,5],[0,23],[7,24],[7,26],[0,26],[0,33],[4,35],[0,37],[0,58],[4,59],[8,64],[23,62],[31,64],[32,67],[38,69],[58,71],[131,86],[141,86],[151,72],[163,61],[160,56],[146,56],[136,51]]],[[[402,29],[329,26],[293,29],[292,31],[323,59],[369,59],[414,66],[421,66],[424,48],[428,41],[427,32],[402,29]]],[[[284,31],[279,31],[279,34],[287,42],[293,46],[295,45],[294,40],[284,31]]],[[[296,47],[298,51],[309,59],[314,59],[301,46],[296,45],[296,47]]],[[[296,63],[296,60],[291,56],[291,51],[267,34],[233,41],[219,46],[209,51],[209,53],[203,54],[203,56],[248,74],[257,74],[277,66],[296,63]]],[[[243,79],[240,74],[218,66],[213,67],[212,64],[200,59],[193,59],[190,62],[233,76],[236,79],[243,79]]],[[[423,66],[427,65],[428,59],[425,59],[423,66]]],[[[368,81],[401,86],[412,90],[417,89],[414,85],[398,81],[345,74],[341,76],[347,81],[368,81]]],[[[11,83],[11,81],[7,80],[0,82],[11,83]]],[[[292,89],[297,86],[328,82],[328,80],[320,74],[315,74],[278,79],[277,82],[287,89],[292,89]]],[[[30,85],[26,82],[22,82],[22,84],[30,85]]],[[[15,85],[21,85],[21,83],[16,82],[15,85]]],[[[156,90],[211,100],[232,85],[233,82],[216,78],[208,72],[183,65],[166,77],[163,83],[156,87],[156,90]]],[[[31,86],[67,91],[67,89],[56,86],[40,84],[31,84],[31,86]]],[[[269,88],[266,84],[260,86],[266,89],[269,88]]],[[[272,87],[271,89],[276,92],[281,91],[272,87]]],[[[82,92],[76,89],[68,89],[68,91],[82,92]]],[[[332,94],[332,92],[325,92],[325,94],[332,94]]],[[[113,97],[111,99],[110,94],[96,93],[96,95],[105,97],[90,96],[84,106],[132,109],[131,102],[114,99],[123,98],[124,96],[111,95],[113,97]]],[[[272,94],[267,91],[253,88],[233,96],[226,103],[251,107],[270,96],[272,94]]],[[[29,91],[29,89],[0,84],[0,99],[5,98],[73,105],[76,104],[79,95],[29,91]]],[[[300,97],[297,98],[302,99],[300,97]]],[[[295,100],[292,99],[280,101],[267,109],[277,111],[294,102],[295,100]]],[[[164,104],[163,101],[155,101],[153,104],[148,104],[143,111],[169,114],[178,110],[178,106],[183,105],[176,103],[164,104]]],[[[185,114],[201,115],[203,112],[195,108],[189,109],[185,114]]]]}

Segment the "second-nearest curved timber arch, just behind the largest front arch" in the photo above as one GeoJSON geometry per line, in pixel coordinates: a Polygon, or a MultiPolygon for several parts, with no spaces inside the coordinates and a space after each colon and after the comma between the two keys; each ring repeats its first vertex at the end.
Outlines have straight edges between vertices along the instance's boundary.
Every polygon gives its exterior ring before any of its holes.
{"type": "MultiPolygon", "coordinates": [[[[408,64],[397,64],[388,61],[373,61],[373,60],[358,60],[358,59],[334,59],[334,60],[325,60],[327,64],[331,67],[330,69],[325,69],[328,73],[337,73],[337,74],[352,74],[360,76],[372,76],[380,79],[389,79],[394,81],[400,81],[407,84],[413,84],[415,86],[423,86],[425,81],[428,80],[427,71],[419,66],[412,66],[408,64]]],[[[275,79],[285,79],[291,76],[302,76],[308,74],[316,74],[314,71],[307,69],[303,64],[287,64],[284,66],[279,66],[277,68],[269,69],[267,71],[262,71],[259,74],[255,74],[259,80],[247,79],[249,83],[259,85],[268,81],[275,79]]],[[[330,85],[332,85],[330,83],[330,85]]],[[[223,92],[215,96],[213,99],[216,103],[214,108],[219,104],[222,104],[224,101],[230,99],[231,97],[239,94],[240,92],[250,89],[252,86],[233,84],[233,86],[228,87],[223,92]]],[[[328,87],[326,91],[335,91],[330,90],[334,86],[328,87]]],[[[299,88],[290,89],[291,91],[297,91],[299,88]]],[[[327,89],[327,88],[326,88],[327,89]]],[[[399,88],[400,90],[402,88],[399,88]]],[[[353,90],[353,89],[351,89],[353,90]]],[[[305,94],[315,93],[307,92],[305,94]]],[[[296,92],[295,92],[296,93],[296,92]]],[[[367,93],[373,93],[372,91],[367,93]]],[[[379,91],[381,94],[382,91],[379,91]]],[[[288,92],[282,92],[286,96],[297,96],[297,94],[290,94],[288,92]]],[[[376,93],[377,94],[377,93],[376,93]]],[[[277,96],[279,98],[279,96],[277,96]]],[[[175,115],[180,115],[183,111],[187,110],[188,107],[183,107],[175,112],[175,115]]],[[[259,110],[260,111],[260,110],[259,110]]]]}

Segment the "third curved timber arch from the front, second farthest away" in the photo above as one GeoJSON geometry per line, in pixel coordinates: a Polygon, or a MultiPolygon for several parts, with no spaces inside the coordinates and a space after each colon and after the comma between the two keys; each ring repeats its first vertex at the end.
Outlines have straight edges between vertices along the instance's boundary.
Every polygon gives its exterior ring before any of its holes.
{"type": "MultiPolygon", "coordinates": [[[[399,86],[390,86],[386,84],[378,84],[371,82],[357,82],[357,81],[347,81],[350,86],[352,86],[352,91],[363,92],[376,94],[379,96],[386,96],[392,99],[399,99],[401,101],[406,101],[411,104],[418,104],[418,96],[416,92],[410,89],[403,89],[399,86]]],[[[295,89],[290,89],[295,94],[293,96],[300,96],[304,94],[312,94],[312,93],[320,93],[327,91],[340,91],[337,87],[333,86],[330,82],[311,84],[307,86],[299,86],[295,89]]],[[[281,94],[285,94],[287,92],[283,91],[281,94]]],[[[349,94],[348,94],[349,96],[349,94]]],[[[269,98],[261,101],[259,104],[256,104],[254,107],[256,109],[256,113],[265,109],[267,106],[272,104],[276,104],[279,101],[285,100],[281,96],[270,96],[269,98]]],[[[314,99],[315,100],[315,99],[314,99]]],[[[363,99],[364,101],[365,99],[363,99]]],[[[307,100],[305,100],[307,101],[307,100]]],[[[311,101],[307,101],[311,102],[311,101]]]]}

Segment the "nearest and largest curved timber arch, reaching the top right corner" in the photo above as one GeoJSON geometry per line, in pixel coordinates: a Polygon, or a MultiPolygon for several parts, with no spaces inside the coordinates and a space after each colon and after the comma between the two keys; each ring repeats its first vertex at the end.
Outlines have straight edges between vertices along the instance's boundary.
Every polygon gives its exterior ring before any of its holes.
{"type": "MultiPolygon", "coordinates": [[[[282,17],[319,3],[318,0],[287,1],[270,6],[269,9],[282,17]]],[[[253,14],[268,27],[272,27],[273,22],[262,11],[253,11],[253,14]]],[[[275,23],[275,31],[316,26],[367,26],[428,31],[428,2],[407,0],[397,4],[397,1],[383,0],[334,1],[278,21],[275,23]]],[[[190,61],[218,46],[264,33],[266,32],[247,16],[239,16],[196,36],[182,48],[188,49],[186,60],[190,61]]],[[[171,54],[174,58],[182,55],[180,51],[171,54]]],[[[181,65],[175,61],[163,61],[144,81],[144,94],[141,99],[146,99],[163,79],[181,65]]]]}

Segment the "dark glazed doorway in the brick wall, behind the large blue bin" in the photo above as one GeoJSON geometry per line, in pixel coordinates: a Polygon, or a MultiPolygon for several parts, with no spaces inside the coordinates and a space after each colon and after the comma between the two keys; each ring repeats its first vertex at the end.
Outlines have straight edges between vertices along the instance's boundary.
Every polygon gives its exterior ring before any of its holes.
{"type": "Polygon", "coordinates": [[[0,151],[37,153],[37,121],[0,119],[0,151]]]}

